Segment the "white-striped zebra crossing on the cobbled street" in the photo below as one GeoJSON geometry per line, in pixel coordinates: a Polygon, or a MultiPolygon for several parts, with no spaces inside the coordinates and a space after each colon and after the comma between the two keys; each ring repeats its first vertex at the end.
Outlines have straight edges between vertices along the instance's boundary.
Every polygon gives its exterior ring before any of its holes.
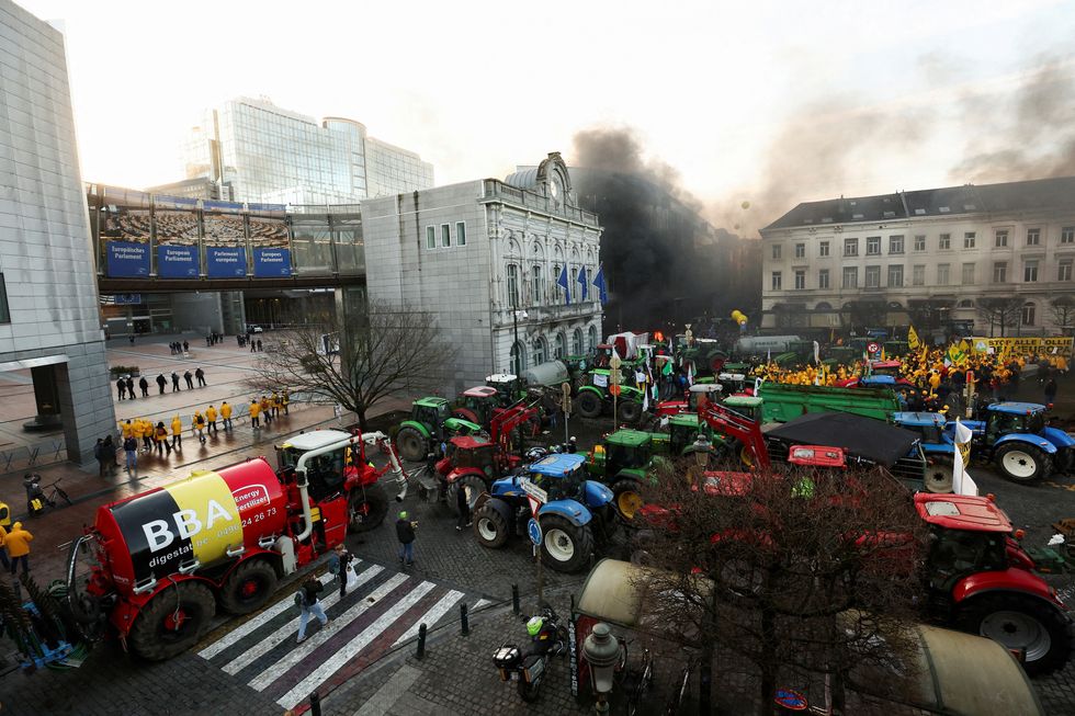
{"type": "Polygon", "coordinates": [[[298,644],[298,609],[291,596],[251,615],[219,638],[202,644],[197,656],[225,673],[294,708],[314,691],[347,681],[366,666],[418,635],[454,618],[459,604],[475,611],[489,603],[418,576],[355,560],[358,586],[340,600],[332,575],[322,575],[320,602],[329,617],[310,621],[298,644]]]}

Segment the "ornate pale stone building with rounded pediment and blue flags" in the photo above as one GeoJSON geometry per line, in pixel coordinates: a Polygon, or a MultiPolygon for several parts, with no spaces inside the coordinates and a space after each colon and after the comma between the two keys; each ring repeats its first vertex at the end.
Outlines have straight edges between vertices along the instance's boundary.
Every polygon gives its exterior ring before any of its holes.
{"type": "Polygon", "coordinates": [[[366,200],[362,228],[369,297],[432,311],[460,346],[446,391],[600,342],[603,229],[559,152],[503,181],[366,200]]]}

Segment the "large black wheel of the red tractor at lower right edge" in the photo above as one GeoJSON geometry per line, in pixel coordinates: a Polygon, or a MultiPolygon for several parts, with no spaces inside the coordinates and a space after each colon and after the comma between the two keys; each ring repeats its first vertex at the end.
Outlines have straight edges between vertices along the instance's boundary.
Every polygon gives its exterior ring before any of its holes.
{"type": "Polygon", "coordinates": [[[1056,609],[1030,596],[996,593],[970,600],[957,626],[1007,649],[1026,649],[1031,677],[1063,668],[1072,651],[1072,623],[1056,609]]]}

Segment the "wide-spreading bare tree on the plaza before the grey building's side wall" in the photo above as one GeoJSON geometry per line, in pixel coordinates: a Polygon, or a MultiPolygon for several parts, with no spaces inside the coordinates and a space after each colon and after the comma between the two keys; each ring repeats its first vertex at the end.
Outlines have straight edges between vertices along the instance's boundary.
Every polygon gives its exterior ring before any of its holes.
{"type": "Polygon", "coordinates": [[[437,388],[455,352],[432,314],[370,300],[353,309],[346,325],[337,319],[283,334],[248,383],[338,402],[354,411],[365,430],[366,412],[388,396],[437,388]]]}

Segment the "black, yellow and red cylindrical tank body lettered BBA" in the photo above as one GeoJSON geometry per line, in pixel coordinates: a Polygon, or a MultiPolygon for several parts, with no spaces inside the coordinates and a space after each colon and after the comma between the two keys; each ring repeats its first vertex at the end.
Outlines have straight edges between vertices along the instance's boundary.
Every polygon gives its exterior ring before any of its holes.
{"type": "Polygon", "coordinates": [[[285,499],[261,459],[185,480],[98,511],[98,530],[126,544],[128,564],[114,565],[132,586],[229,558],[228,550],[283,533],[285,499]]]}

